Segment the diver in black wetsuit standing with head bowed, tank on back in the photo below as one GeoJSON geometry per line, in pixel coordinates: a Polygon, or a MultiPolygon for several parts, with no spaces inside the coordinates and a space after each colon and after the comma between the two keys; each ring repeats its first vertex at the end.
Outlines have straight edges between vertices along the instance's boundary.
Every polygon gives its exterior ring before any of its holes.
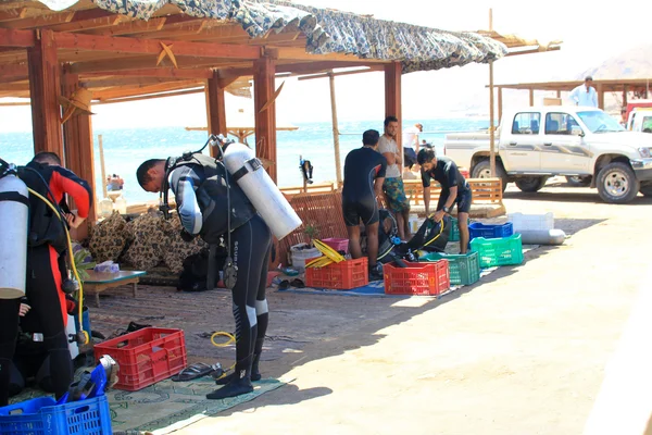
{"type": "Polygon", "coordinates": [[[170,170],[165,160],[148,160],[138,167],[138,183],[147,191],[163,191],[167,189],[165,178],[168,174],[184,226],[181,236],[188,239],[199,235],[208,244],[215,245],[230,227],[230,251],[237,266],[237,279],[231,290],[236,366],[234,373],[217,381],[218,385],[226,385],[206,397],[223,399],[251,393],[251,381],[261,378],[259,361],[268,321],[265,286],[272,246],[269,228],[227,175],[224,165],[214,158],[195,153],[189,160],[177,162],[172,172],[170,170]]]}

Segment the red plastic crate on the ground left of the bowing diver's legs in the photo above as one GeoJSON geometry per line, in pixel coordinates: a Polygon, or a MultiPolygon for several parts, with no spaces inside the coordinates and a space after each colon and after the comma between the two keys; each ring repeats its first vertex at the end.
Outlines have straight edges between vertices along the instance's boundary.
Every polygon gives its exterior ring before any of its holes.
{"type": "Polygon", "coordinates": [[[95,346],[95,357],[110,355],[118,364],[115,388],[136,391],[180,372],[187,363],[181,330],[145,327],[95,346]]]}

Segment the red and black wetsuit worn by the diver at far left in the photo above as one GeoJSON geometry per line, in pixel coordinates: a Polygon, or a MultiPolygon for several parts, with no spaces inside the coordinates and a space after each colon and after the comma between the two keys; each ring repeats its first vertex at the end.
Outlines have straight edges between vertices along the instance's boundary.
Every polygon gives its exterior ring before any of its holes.
{"type": "MultiPolygon", "coordinates": [[[[30,162],[27,167],[38,171],[59,203],[68,194],[77,204],[80,217],[87,217],[92,194],[86,182],[71,171],[30,162]]],[[[33,171],[21,170],[18,175],[30,189],[50,197],[43,182],[33,171]]],[[[50,356],[53,389],[61,397],[73,380],[65,325],[65,295],[61,290],[60,253],[65,251],[65,232],[59,219],[39,198],[29,195],[29,234],[27,247],[26,296],[32,311],[39,319],[43,346],[50,356]]],[[[9,364],[14,356],[18,333],[20,299],[0,299],[0,406],[8,402],[9,364]]]]}

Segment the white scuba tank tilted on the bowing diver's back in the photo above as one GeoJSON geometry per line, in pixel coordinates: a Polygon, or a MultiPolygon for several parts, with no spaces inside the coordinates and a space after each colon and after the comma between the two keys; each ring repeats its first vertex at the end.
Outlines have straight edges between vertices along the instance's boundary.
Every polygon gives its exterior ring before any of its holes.
{"type": "Polygon", "coordinates": [[[276,238],[284,238],[301,225],[301,219],[251,148],[229,144],[224,149],[224,164],[276,238]]]}

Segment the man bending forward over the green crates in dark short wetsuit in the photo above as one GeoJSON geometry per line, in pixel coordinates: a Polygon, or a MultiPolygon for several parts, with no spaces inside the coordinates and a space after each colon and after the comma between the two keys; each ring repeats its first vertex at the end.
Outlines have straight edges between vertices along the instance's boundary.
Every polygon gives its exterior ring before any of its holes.
{"type": "Polygon", "coordinates": [[[441,186],[435,221],[441,221],[444,213],[450,213],[457,204],[457,226],[460,227],[460,253],[466,253],[468,245],[468,211],[471,210],[471,188],[457,165],[448,157],[436,157],[435,150],[424,148],[416,157],[422,167],[422,184],[424,186],[424,204],[426,216],[430,214],[430,178],[441,186]]]}

